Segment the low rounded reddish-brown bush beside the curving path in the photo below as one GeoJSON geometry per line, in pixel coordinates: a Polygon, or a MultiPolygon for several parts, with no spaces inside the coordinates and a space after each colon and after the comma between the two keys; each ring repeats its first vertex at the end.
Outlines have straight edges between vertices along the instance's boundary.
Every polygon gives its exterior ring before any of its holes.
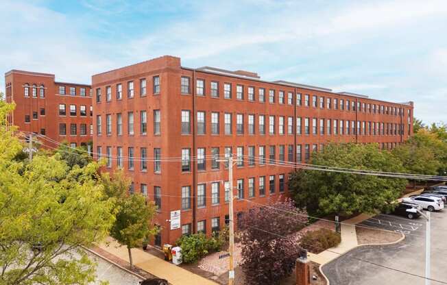
{"type": "Polygon", "coordinates": [[[340,234],[328,229],[319,229],[306,232],[301,238],[300,246],[312,253],[320,253],[330,247],[335,247],[341,242],[340,234]]]}

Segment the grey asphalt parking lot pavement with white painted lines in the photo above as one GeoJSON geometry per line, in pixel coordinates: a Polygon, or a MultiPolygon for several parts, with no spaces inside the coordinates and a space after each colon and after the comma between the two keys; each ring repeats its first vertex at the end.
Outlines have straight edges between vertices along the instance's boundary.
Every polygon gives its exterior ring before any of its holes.
{"type": "MultiPolygon", "coordinates": [[[[405,234],[395,245],[365,245],[322,267],[331,285],[425,284],[425,219],[409,220],[401,216],[379,214],[361,225],[405,234]],[[357,259],[356,259],[357,258],[357,259]],[[379,267],[374,264],[380,264],[379,267]],[[397,269],[386,269],[389,267],[397,269]]],[[[447,211],[431,213],[431,278],[447,282],[447,211]]],[[[442,284],[432,281],[431,284],[442,284]]]]}

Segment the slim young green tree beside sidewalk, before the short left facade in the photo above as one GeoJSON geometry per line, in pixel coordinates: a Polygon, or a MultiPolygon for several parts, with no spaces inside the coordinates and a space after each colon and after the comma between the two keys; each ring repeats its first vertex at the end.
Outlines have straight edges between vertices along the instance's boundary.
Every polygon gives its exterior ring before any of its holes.
{"type": "Polygon", "coordinates": [[[108,174],[102,176],[106,193],[117,198],[117,220],[110,230],[110,236],[121,245],[128,248],[130,267],[133,267],[132,251],[140,247],[143,240],[147,240],[158,232],[153,223],[156,206],[153,201],[147,203],[141,194],[126,195],[130,181],[122,172],[115,173],[111,178],[108,174]]]}

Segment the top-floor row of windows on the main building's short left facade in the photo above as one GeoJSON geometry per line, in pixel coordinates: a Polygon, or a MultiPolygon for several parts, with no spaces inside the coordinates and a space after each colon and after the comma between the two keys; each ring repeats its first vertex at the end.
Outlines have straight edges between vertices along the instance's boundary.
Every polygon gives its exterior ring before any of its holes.
{"type": "MultiPolygon", "coordinates": [[[[126,84],[127,89],[125,90],[127,97],[133,98],[135,96],[135,86],[134,81],[129,81],[126,84]]],[[[123,84],[116,84],[114,87],[114,94],[117,100],[123,99],[123,84]]],[[[106,86],[106,102],[112,101],[112,86],[106,86]]],[[[160,94],[160,76],[156,75],[152,77],[152,94],[160,94]]],[[[144,97],[147,95],[147,80],[146,78],[139,79],[139,95],[144,97]]],[[[101,88],[96,88],[96,102],[101,102],[102,92],[101,88]]]]}

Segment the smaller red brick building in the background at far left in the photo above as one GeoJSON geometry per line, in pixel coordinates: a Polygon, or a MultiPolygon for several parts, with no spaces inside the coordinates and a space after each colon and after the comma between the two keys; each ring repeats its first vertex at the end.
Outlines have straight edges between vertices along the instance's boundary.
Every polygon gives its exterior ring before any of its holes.
{"type": "Polygon", "coordinates": [[[53,74],[12,70],[5,73],[5,98],[16,103],[10,123],[20,131],[43,134],[72,147],[92,141],[90,85],[55,82],[53,74]]]}

